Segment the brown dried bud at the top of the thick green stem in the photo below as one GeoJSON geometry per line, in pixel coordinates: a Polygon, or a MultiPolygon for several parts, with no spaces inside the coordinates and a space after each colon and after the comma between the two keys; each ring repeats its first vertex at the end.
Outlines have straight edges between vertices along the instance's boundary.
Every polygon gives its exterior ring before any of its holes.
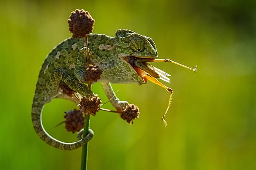
{"type": "Polygon", "coordinates": [[[89,114],[95,116],[96,112],[99,111],[101,105],[101,100],[97,94],[94,97],[89,97],[88,99],[82,97],[79,102],[79,109],[88,116],[89,114]]]}

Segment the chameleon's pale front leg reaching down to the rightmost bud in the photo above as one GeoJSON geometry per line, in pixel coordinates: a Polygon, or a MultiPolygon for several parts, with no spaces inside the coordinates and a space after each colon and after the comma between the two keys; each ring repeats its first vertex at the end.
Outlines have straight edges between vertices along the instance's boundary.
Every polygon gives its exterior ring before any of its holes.
{"type": "Polygon", "coordinates": [[[129,103],[126,101],[120,101],[119,98],[116,97],[115,92],[110,83],[101,82],[101,86],[105,91],[106,96],[110,100],[111,104],[117,111],[122,111],[122,109],[126,106],[129,106],[129,103]]]}

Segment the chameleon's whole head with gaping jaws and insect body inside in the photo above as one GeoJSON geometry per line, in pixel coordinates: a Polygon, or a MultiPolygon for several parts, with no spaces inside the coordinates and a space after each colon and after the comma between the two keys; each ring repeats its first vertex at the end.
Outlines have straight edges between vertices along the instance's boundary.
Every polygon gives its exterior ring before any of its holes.
{"type": "Polygon", "coordinates": [[[156,44],[151,38],[127,29],[118,29],[115,40],[116,52],[121,63],[126,66],[121,69],[132,79],[131,83],[144,84],[150,77],[169,81],[169,78],[166,78],[169,74],[146,63],[158,58],[156,44]]]}

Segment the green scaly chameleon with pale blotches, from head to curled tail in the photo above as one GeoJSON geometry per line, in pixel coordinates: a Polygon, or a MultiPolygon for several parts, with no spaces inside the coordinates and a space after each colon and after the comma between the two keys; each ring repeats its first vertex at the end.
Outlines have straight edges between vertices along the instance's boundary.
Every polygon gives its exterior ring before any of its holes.
{"type": "MultiPolygon", "coordinates": [[[[88,45],[91,63],[98,65],[103,72],[98,81],[101,82],[109,99],[115,96],[110,83],[138,83],[139,85],[145,83],[123,57],[134,55],[157,58],[156,45],[152,39],[125,29],[117,30],[115,37],[89,34],[88,45]],[[131,41],[133,37],[136,38],[131,41]],[[138,52],[136,48],[141,51],[138,52]]],[[[79,141],[64,143],[51,137],[45,131],[41,120],[43,107],[51,99],[64,98],[77,102],[75,97],[62,94],[59,87],[60,81],[63,81],[75,92],[80,93],[81,96],[93,95],[93,92],[85,84],[87,82],[84,78],[84,71],[87,66],[84,39],[73,38],[66,39],[57,45],[42,65],[32,104],[32,122],[38,136],[51,146],[63,150],[74,150],[90,141],[93,136],[93,131],[90,130],[89,134],[79,141]]],[[[111,103],[117,110],[128,105],[128,102],[120,101],[116,96],[111,100],[111,103]]]]}

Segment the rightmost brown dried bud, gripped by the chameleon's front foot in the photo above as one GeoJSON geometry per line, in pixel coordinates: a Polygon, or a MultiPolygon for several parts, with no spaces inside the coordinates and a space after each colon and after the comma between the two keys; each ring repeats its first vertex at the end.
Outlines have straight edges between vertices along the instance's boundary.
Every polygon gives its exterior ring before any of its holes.
{"type": "Polygon", "coordinates": [[[129,104],[129,106],[123,108],[122,113],[120,114],[121,118],[126,120],[128,123],[133,124],[135,118],[140,118],[140,110],[134,104],[129,104]]]}

